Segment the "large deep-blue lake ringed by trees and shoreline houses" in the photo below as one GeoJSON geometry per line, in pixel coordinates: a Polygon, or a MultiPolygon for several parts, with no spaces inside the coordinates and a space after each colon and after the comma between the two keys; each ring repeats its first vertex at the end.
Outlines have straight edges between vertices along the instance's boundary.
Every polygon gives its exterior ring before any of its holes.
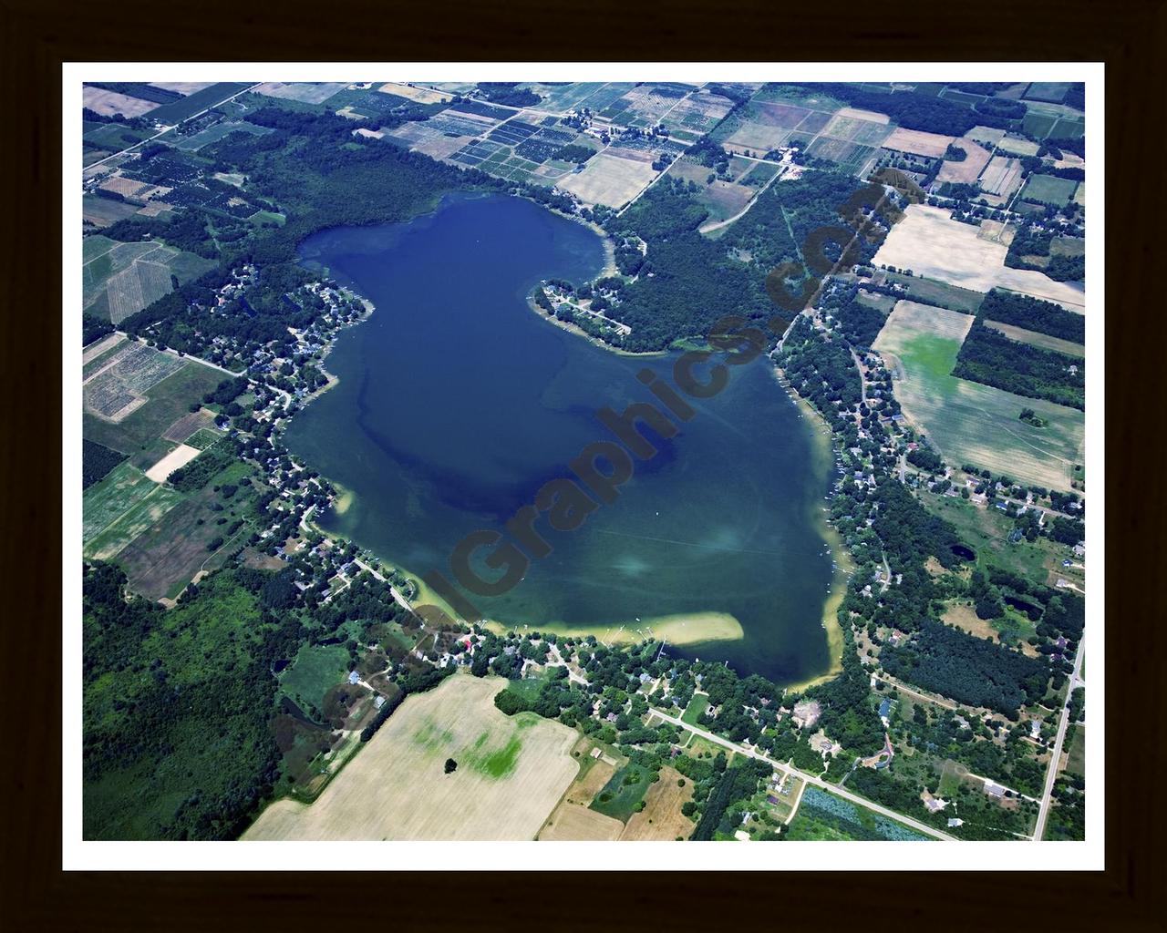
{"type": "MultiPolygon", "coordinates": [[[[326,366],[338,384],[292,419],[285,442],[351,493],[321,527],[413,575],[449,575],[475,529],[505,538],[544,483],[614,440],[595,413],[654,401],[640,370],[671,381],[676,355],[613,353],[531,311],[540,279],[592,279],[603,250],[527,201],[447,198],[406,224],[317,233],[301,261],[376,311],[337,338],[326,366]]],[[[815,676],[829,665],[830,457],[764,358],[689,401],[696,415],[669,440],[649,435],[661,453],[636,461],[616,503],[572,532],[541,520],[553,552],[503,596],[471,598],[509,625],[605,640],[621,626],[671,632],[687,644],[670,653],[778,683],[815,676]],[[694,630],[719,640],[693,643],[694,630]]]]}

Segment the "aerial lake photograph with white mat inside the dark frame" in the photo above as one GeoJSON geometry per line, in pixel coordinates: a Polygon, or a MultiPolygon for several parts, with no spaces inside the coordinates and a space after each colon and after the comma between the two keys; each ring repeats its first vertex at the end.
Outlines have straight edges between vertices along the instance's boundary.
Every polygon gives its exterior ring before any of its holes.
{"type": "Polygon", "coordinates": [[[1102,844],[1100,69],[74,68],[67,846],[1102,844]]]}

